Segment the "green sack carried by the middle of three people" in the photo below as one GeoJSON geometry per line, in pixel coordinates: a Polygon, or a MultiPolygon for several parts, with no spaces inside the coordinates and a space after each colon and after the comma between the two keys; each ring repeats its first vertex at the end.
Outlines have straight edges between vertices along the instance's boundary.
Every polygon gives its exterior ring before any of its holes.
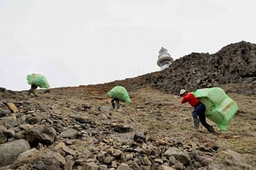
{"type": "Polygon", "coordinates": [[[126,88],[121,87],[121,86],[113,87],[112,90],[110,90],[108,92],[108,95],[109,95],[109,97],[117,98],[120,101],[123,101],[123,102],[126,102],[126,103],[130,103],[131,102],[129,94],[128,94],[126,88]]]}

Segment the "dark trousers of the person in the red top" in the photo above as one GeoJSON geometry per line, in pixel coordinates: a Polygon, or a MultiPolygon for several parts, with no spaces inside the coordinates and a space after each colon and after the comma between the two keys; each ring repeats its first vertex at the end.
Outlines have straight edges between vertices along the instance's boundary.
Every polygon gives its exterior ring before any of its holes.
{"type": "Polygon", "coordinates": [[[199,105],[194,107],[194,110],[192,111],[192,117],[195,120],[198,120],[201,122],[201,124],[209,130],[210,125],[206,123],[206,107],[204,104],[200,103],[199,105]],[[199,118],[198,118],[199,117],[199,118]]]}

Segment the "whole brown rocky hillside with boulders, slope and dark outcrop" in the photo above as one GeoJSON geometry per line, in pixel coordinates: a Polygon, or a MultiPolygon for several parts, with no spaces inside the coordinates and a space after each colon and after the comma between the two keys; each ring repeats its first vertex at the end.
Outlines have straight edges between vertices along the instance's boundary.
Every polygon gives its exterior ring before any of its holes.
{"type": "Polygon", "coordinates": [[[216,54],[184,56],[161,72],[36,90],[39,97],[0,88],[0,169],[254,169],[254,51],[254,44],[238,42],[216,54]],[[119,110],[106,94],[116,85],[133,101],[119,110]],[[175,95],[181,87],[212,86],[239,106],[228,130],[217,134],[193,129],[192,108],[175,95]]]}

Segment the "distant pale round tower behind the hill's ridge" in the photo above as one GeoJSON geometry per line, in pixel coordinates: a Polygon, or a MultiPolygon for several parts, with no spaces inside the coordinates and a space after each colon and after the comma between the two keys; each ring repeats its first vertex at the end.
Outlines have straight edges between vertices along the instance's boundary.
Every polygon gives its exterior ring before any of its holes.
{"type": "Polygon", "coordinates": [[[160,66],[161,70],[164,70],[168,68],[171,65],[171,63],[173,63],[173,59],[171,58],[171,55],[168,53],[167,49],[164,49],[164,47],[162,47],[159,50],[157,66],[160,66]]]}

